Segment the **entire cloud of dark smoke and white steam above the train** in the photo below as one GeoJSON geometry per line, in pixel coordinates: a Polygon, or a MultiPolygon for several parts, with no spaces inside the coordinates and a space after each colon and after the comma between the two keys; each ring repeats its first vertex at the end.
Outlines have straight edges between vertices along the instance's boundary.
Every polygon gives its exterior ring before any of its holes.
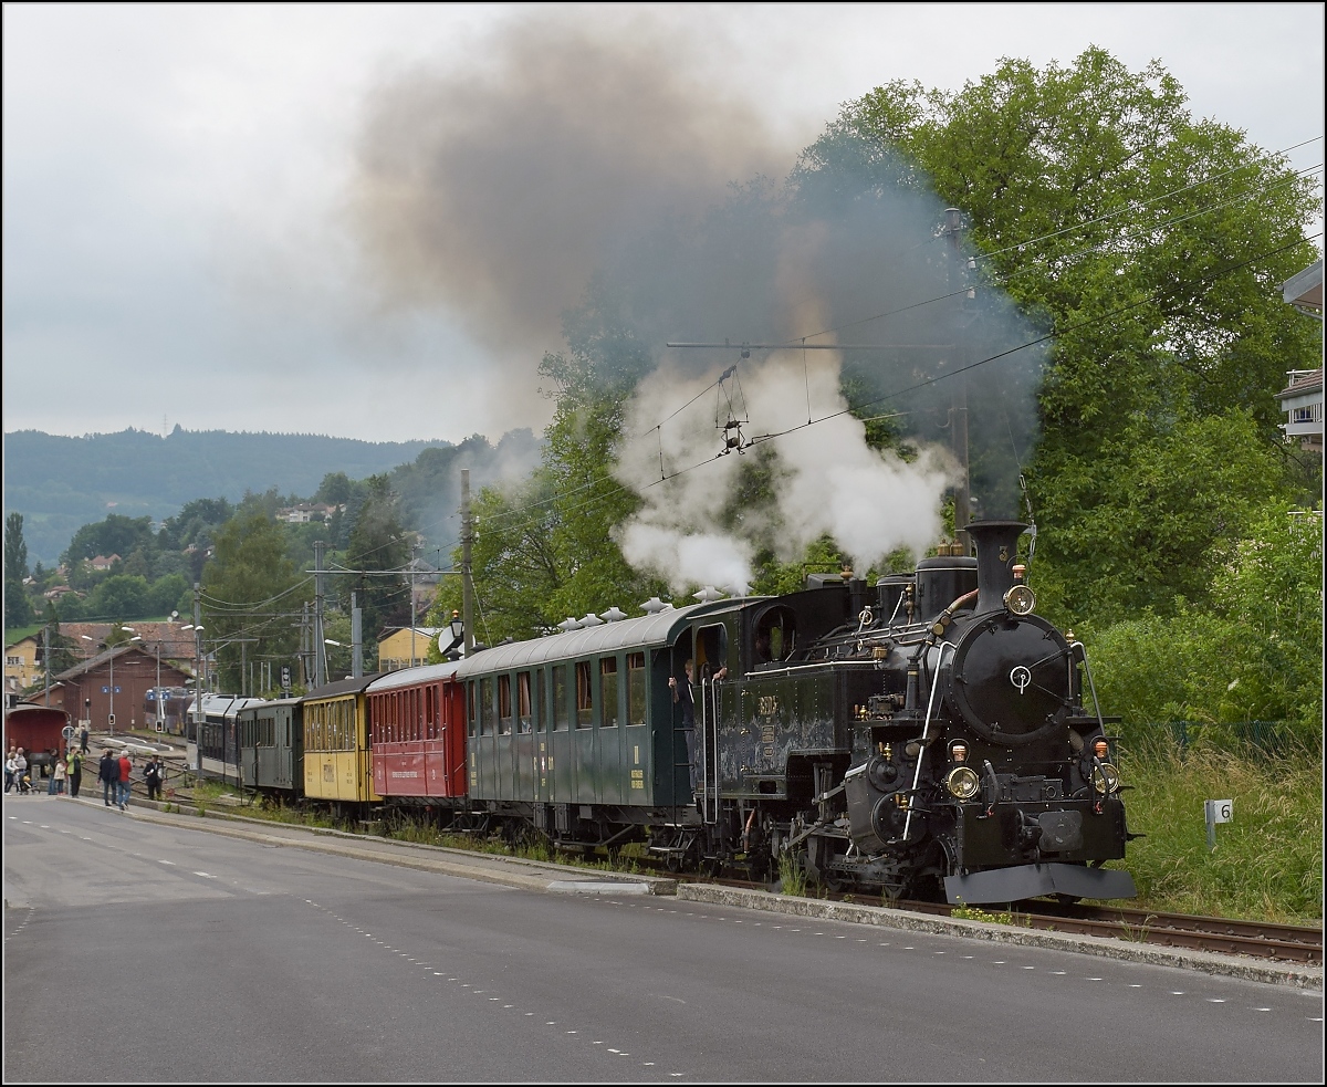
{"type": "MultiPolygon", "coordinates": [[[[750,105],[689,70],[693,52],[683,40],[543,19],[500,31],[467,70],[418,69],[385,84],[354,199],[378,284],[395,304],[463,315],[506,360],[494,377],[514,401],[533,392],[543,352],[561,346],[564,312],[592,295],[658,368],[630,426],[637,439],[665,419],[667,429],[649,438],[648,457],[622,451],[624,482],[642,495],[662,459],[675,470],[714,457],[714,419],[701,418],[717,410],[713,394],[685,417],[670,413],[739,361],[734,350],[669,350],[669,340],[884,345],[752,352],[739,364],[752,382],[746,433],[841,410],[843,373],[857,402],[876,401],[872,410],[922,449],[913,465],[868,449],[860,423],[808,429],[772,446],[786,450],[790,502],[747,519],[763,538],[719,539],[739,480],[715,470],[709,495],[691,476],[652,488],[625,543],[633,561],[677,572],[706,542],[686,580],[703,580],[711,561],[738,568],[771,538],[795,551],[823,531],[843,542],[865,528],[869,539],[852,547],[867,561],[918,549],[940,531],[954,470],[942,447],[955,385],[928,382],[1036,332],[994,292],[945,297],[963,272],[925,184],[857,177],[851,163],[790,174],[796,151],[775,146],[750,105]],[[721,552],[723,561],[711,557],[721,552]]],[[[1030,454],[1040,369],[1040,354],[1020,353],[966,378],[982,515],[1019,512],[1013,451],[1030,454]]]]}

